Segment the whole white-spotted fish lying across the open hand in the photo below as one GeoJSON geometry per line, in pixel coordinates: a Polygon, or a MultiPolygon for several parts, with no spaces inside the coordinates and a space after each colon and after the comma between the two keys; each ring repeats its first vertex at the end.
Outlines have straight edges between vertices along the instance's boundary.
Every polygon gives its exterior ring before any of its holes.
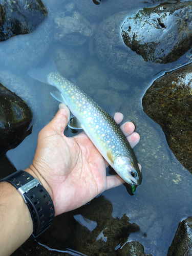
{"type": "Polygon", "coordinates": [[[138,160],[113,118],[113,108],[107,112],[101,108],[76,84],[63,77],[52,59],[44,68],[32,68],[28,74],[56,87],[57,91],[51,92],[51,95],[66,104],[74,116],[68,126],[72,129],[83,129],[103,158],[126,183],[135,187],[141,184],[142,173],[138,160]]]}

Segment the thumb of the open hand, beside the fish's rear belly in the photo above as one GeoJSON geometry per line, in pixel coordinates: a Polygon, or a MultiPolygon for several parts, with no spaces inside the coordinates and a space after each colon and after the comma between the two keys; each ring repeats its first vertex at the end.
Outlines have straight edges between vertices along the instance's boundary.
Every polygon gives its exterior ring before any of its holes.
{"type": "Polygon", "coordinates": [[[55,117],[48,123],[44,129],[41,131],[44,132],[45,136],[50,135],[63,135],[64,130],[70,119],[70,111],[65,104],[59,104],[59,110],[56,113],[55,117]]]}

